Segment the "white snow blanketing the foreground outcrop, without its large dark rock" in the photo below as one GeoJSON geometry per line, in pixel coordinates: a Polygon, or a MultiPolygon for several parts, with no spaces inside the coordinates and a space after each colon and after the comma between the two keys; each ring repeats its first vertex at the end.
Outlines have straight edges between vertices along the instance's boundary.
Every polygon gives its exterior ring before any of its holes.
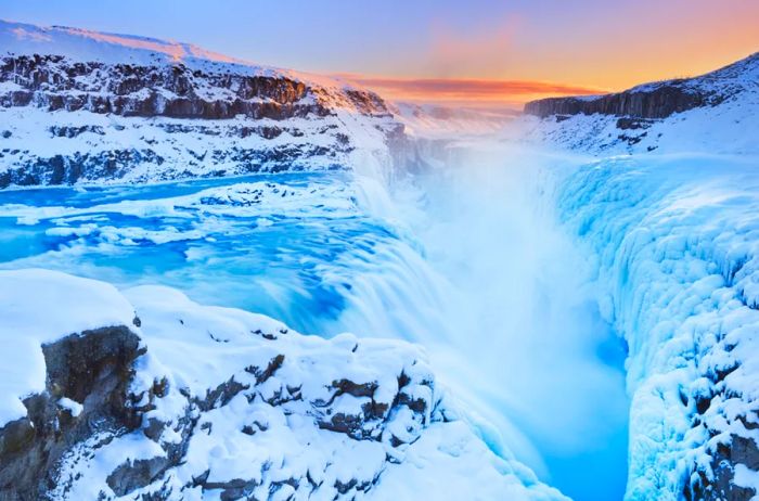
{"type": "MultiPolygon", "coordinates": [[[[94,499],[101,492],[114,499],[106,483],[111,472],[125,463],[165,458],[165,448],[182,440],[188,413],[194,427],[185,460],[131,497],[168,486],[169,499],[216,499],[224,485],[242,478],[258,498],[334,499],[338,486],[358,485],[363,487],[352,492],[365,499],[415,499],[421,491],[466,499],[503,493],[514,500],[566,499],[519,463],[494,455],[468,425],[453,419],[456,412],[417,346],[350,334],[303,336],[268,317],[202,306],[163,286],[119,293],[101,282],[42,270],[2,272],[0,286],[3,319],[12,326],[25,325],[37,348],[76,330],[131,322],[137,311],[141,329],[131,329],[146,354],[136,362],[130,391],[140,395],[155,381],[167,384],[168,390],[143,418],[145,424],[165,423],[163,434],[155,440],[141,431],[93,435],[64,457],[53,499],[94,499]],[[9,288],[36,294],[9,303],[9,288]],[[46,311],[44,319],[31,321],[30,312],[39,309],[46,311]],[[31,336],[39,332],[46,335],[31,336]],[[261,375],[260,369],[280,357],[281,365],[261,375]],[[404,374],[403,388],[399,374],[404,374]],[[337,381],[375,389],[371,396],[339,394],[334,389],[337,381]],[[214,388],[230,382],[241,385],[231,398],[190,404],[205,401],[214,388]],[[422,399],[425,410],[412,412],[394,403],[399,391],[422,399]],[[393,410],[365,421],[358,435],[319,424],[340,412],[360,415],[368,402],[393,410]],[[394,435],[400,445],[390,440],[394,435]],[[193,487],[193,479],[204,475],[207,488],[193,487]]],[[[7,329],[2,333],[11,337],[7,329]]],[[[29,364],[16,350],[5,352],[13,354],[15,375],[38,370],[44,375],[43,363],[29,364]]],[[[9,363],[3,360],[4,368],[9,363]]],[[[81,411],[67,398],[59,406],[74,418],[81,411]]],[[[9,408],[12,412],[13,406],[3,402],[3,416],[11,414],[9,408]]]]}

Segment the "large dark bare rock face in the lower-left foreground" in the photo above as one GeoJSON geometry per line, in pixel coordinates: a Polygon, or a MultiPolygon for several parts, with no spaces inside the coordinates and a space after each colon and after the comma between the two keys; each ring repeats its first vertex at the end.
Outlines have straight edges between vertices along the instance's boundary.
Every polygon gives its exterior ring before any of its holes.
{"type": "Polygon", "coordinates": [[[42,347],[46,391],[24,401],[28,415],[0,428],[0,499],[42,499],[56,483],[62,455],[95,432],[136,429],[127,387],[140,338],[126,326],[73,334],[42,347]],[[57,400],[82,404],[73,416],[57,400]]]}

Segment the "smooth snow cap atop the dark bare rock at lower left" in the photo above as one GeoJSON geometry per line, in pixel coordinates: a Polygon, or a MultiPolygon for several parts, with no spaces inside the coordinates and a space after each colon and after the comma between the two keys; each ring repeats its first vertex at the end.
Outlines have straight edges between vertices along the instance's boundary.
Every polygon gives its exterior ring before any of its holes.
{"type": "Polygon", "coordinates": [[[43,344],[134,319],[113,285],[39,269],[0,271],[0,426],[24,418],[23,399],[44,390],[43,344]]]}

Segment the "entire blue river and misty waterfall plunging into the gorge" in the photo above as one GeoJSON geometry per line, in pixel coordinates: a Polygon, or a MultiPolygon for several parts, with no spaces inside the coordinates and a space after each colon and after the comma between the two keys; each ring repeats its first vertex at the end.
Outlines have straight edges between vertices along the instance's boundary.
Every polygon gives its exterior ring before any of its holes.
{"type": "Polygon", "coordinates": [[[344,172],[5,191],[0,266],[419,342],[493,450],[579,500],[619,499],[625,354],[588,265],[552,220],[542,166],[467,164],[393,196],[344,172]]]}

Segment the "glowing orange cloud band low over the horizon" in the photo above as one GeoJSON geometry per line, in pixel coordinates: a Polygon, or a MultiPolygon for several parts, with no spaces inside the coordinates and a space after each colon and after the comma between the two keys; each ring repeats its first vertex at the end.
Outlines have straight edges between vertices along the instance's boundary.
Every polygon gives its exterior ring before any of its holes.
{"type": "Polygon", "coordinates": [[[391,101],[518,105],[549,95],[588,95],[604,92],[602,89],[531,80],[388,78],[363,75],[340,77],[372,89],[391,101]]]}

